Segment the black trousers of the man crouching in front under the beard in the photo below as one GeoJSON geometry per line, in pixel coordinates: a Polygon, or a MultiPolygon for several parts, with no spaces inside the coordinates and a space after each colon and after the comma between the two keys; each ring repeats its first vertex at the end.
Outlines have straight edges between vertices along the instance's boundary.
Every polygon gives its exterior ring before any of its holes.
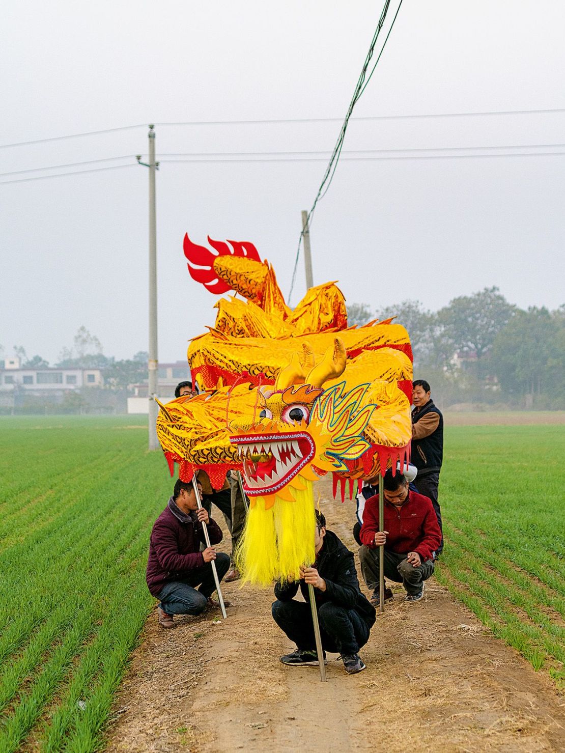
{"type": "MultiPolygon", "coordinates": [[[[369,627],[354,609],[345,609],[333,602],[325,602],[317,610],[320,636],[324,651],[357,654],[369,640],[369,627]]],[[[314,625],[309,604],[277,600],[272,605],[272,616],[283,633],[302,651],[315,651],[314,625]]]]}

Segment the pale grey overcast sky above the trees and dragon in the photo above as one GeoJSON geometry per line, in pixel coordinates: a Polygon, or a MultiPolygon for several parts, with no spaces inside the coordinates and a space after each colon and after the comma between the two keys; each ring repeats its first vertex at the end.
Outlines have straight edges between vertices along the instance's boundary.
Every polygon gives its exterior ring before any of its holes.
{"type": "MultiPolygon", "coordinates": [[[[5,0],[0,143],[136,123],[341,118],[381,8],[5,0]]],[[[560,0],[405,0],[354,115],[565,108],[563,28],[560,0]]],[[[158,157],[331,151],[339,127],[159,126],[156,148],[158,157]]],[[[352,120],[345,151],[551,145],[545,151],[565,154],[563,130],[565,112],[352,120]]],[[[0,172],[141,153],[146,126],[3,148],[0,172]]],[[[188,275],[184,233],[202,244],[208,234],[254,242],[287,296],[300,211],[325,166],[163,161],[160,361],[184,360],[187,340],[214,324],[216,297],[188,275]]],[[[555,308],[564,298],[564,166],[562,156],[343,160],[311,228],[314,283],[339,280],[348,302],[375,307],[412,298],[437,309],[498,285],[519,306],[555,308]]],[[[0,209],[5,355],[16,344],[56,361],[80,325],[105,355],[147,349],[147,169],[11,183],[0,186],[0,209]]],[[[301,255],[293,305],[305,292],[303,270],[301,255]]]]}

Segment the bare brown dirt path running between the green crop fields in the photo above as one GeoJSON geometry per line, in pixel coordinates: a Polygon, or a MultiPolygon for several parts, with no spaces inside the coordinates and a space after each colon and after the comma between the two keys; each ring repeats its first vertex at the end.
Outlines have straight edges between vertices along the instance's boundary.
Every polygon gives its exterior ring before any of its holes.
{"type": "MultiPolygon", "coordinates": [[[[356,550],[353,503],[328,492],[328,527],[356,550]]],[[[270,590],[226,584],[225,621],[184,617],[166,632],[153,614],[108,751],[565,750],[565,703],[545,676],[439,584],[428,581],[412,605],[394,590],[361,651],[366,671],[350,677],[330,654],[325,684],[317,668],[279,663],[291,645],[271,618],[270,590]]]]}

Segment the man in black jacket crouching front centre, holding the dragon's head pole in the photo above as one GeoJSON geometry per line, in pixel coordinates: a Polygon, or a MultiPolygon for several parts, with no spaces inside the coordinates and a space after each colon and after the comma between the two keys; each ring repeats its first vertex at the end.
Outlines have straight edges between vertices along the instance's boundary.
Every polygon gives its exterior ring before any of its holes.
{"type": "Polygon", "coordinates": [[[317,666],[316,642],[308,584],[314,586],[324,662],[326,651],[342,654],[345,671],[350,675],[365,669],[357,651],[369,640],[375,623],[375,608],[359,589],[353,553],[326,530],[326,519],[316,512],[316,560],[300,570],[300,581],[275,586],[276,602],[272,605],[275,622],[296,643],[297,650],[281,657],[289,666],[317,666]],[[294,601],[302,591],[305,602],[294,601]]]}

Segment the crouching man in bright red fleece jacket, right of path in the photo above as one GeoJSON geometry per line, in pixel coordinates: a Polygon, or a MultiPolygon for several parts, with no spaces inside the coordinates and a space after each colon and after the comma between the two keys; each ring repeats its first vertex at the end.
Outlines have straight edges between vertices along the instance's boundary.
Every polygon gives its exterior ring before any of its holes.
{"type": "MultiPolygon", "coordinates": [[[[384,544],[384,577],[402,583],[406,601],[417,602],[424,594],[424,581],[433,573],[433,560],[442,542],[432,501],[411,492],[406,478],[392,471],[384,474],[384,530],[378,526],[378,495],[369,498],[360,531],[361,572],[378,605],[378,547],[384,544]]],[[[385,599],[392,598],[387,589],[385,599]]]]}

